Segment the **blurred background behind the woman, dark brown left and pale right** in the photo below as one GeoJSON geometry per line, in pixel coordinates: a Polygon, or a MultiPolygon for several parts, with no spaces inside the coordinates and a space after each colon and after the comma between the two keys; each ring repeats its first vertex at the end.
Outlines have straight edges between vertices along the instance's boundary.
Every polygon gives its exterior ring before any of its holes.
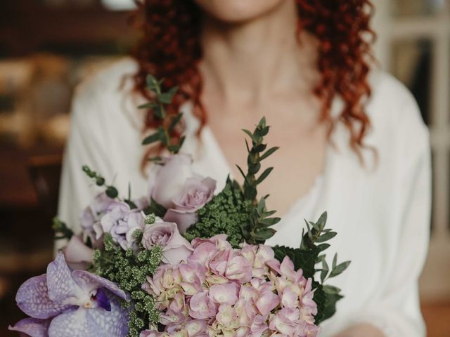
{"type": "MultiPolygon", "coordinates": [[[[431,337],[450,336],[450,6],[373,0],[380,67],[416,97],[431,132],[430,253],[420,280],[431,337]]],[[[18,286],[52,258],[70,101],[85,77],[127,53],[132,0],[0,1],[0,336],[21,317],[18,286]]],[[[411,146],[414,146],[411,144],[411,146]]]]}

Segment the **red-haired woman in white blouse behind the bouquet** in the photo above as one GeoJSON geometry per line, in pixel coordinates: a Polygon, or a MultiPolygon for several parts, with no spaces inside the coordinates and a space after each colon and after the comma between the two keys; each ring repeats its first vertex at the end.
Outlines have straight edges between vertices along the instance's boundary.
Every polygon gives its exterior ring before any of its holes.
{"type": "MultiPolygon", "coordinates": [[[[428,131],[410,93],[369,72],[367,0],[146,0],[143,39],[83,84],[73,106],[60,217],[78,223],[95,190],[89,164],[122,191],[148,190],[142,131],[157,126],[145,76],[181,84],[171,113],[184,112],[184,152],[220,188],[245,166],[240,128],[263,115],[281,150],[260,192],[283,216],[271,244],[297,246],[303,218],[327,210],[332,249],[352,265],[333,280],[345,294],[322,336],[419,337],[425,327],[418,275],[430,213],[428,131]],[[131,179],[131,181],[129,181],[131,179]]],[[[269,161],[272,162],[269,162],[269,161]]],[[[330,252],[332,256],[334,251],[330,252]]]]}

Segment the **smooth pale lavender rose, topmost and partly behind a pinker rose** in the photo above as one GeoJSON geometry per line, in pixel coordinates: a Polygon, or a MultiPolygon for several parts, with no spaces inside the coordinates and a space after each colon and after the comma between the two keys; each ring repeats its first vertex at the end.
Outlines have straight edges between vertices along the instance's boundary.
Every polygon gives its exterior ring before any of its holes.
{"type": "Polygon", "coordinates": [[[190,155],[174,154],[165,158],[164,166],[154,176],[150,197],[166,209],[172,209],[172,199],[183,190],[186,179],[193,175],[190,155]]]}

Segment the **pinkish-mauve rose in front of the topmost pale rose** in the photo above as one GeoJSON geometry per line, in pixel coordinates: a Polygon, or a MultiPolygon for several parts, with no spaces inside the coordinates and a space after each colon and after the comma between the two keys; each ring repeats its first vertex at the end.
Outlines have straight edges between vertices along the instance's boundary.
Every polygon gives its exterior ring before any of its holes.
{"type": "Polygon", "coordinates": [[[173,199],[174,207],[167,210],[164,220],[178,225],[181,233],[198,222],[197,211],[211,201],[216,190],[216,180],[193,176],[186,179],[184,187],[173,199]]]}

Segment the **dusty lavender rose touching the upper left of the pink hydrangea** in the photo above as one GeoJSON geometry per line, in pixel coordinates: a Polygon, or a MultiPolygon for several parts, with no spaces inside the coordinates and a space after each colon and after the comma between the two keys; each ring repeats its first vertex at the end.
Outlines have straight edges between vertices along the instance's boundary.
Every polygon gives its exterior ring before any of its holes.
{"type": "Polygon", "coordinates": [[[162,261],[171,265],[187,260],[193,251],[191,244],[181,236],[176,223],[160,222],[146,225],[142,245],[146,249],[161,246],[162,261]]]}

